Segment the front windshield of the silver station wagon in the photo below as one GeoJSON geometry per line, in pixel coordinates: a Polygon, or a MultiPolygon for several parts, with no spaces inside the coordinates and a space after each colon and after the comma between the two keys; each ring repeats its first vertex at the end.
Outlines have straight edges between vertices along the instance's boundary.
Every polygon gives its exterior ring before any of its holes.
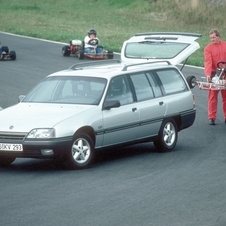
{"type": "Polygon", "coordinates": [[[106,83],[95,77],[47,77],[22,102],[98,105],[106,83]]]}

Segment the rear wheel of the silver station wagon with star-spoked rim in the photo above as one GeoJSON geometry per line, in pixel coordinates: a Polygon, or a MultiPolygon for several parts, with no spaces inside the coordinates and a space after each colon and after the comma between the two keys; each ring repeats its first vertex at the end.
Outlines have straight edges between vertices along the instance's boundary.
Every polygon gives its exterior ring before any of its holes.
{"type": "Polygon", "coordinates": [[[163,121],[158,138],[154,141],[155,148],[160,152],[172,151],[178,138],[177,125],[173,119],[166,119],[163,121]]]}

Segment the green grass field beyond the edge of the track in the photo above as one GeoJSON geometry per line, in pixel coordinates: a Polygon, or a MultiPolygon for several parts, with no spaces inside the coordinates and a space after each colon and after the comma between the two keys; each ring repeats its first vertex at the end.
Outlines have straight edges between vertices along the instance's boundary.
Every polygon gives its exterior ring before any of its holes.
{"type": "Polygon", "coordinates": [[[0,30],[48,40],[83,39],[95,28],[106,49],[120,52],[124,40],[139,32],[201,33],[201,48],[188,64],[203,66],[208,32],[226,38],[226,5],[208,0],[0,0],[0,30]],[[195,5],[194,3],[199,3],[195,5]]]}

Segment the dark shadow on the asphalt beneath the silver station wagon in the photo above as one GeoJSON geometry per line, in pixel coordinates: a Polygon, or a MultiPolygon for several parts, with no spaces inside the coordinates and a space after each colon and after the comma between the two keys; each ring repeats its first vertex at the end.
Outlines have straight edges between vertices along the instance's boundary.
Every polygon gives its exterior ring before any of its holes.
{"type": "MultiPolygon", "coordinates": [[[[177,147],[174,151],[177,151],[177,147]]],[[[173,152],[174,152],[173,151],[173,152]]],[[[164,153],[158,152],[152,142],[136,144],[121,148],[105,148],[97,150],[95,153],[95,162],[88,168],[95,169],[107,165],[108,163],[119,163],[120,161],[127,160],[140,160],[140,158],[146,158],[150,155],[161,155],[164,153]]],[[[17,158],[10,166],[0,167],[0,171],[18,171],[18,172],[53,172],[53,171],[65,171],[68,170],[65,164],[59,160],[52,159],[26,159],[17,158]]],[[[85,169],[84,169],[85,170],[85,169]]]]}

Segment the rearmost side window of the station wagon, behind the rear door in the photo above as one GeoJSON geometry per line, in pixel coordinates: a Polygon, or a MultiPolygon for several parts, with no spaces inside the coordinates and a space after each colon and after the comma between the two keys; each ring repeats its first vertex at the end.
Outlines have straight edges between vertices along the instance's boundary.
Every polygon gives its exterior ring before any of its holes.
{"type": "Polygon", "coordinates": [[[173,68],[156,71],[162,82],[165,94],[172,94],[188,90],[181,74],[173,68]]]}

